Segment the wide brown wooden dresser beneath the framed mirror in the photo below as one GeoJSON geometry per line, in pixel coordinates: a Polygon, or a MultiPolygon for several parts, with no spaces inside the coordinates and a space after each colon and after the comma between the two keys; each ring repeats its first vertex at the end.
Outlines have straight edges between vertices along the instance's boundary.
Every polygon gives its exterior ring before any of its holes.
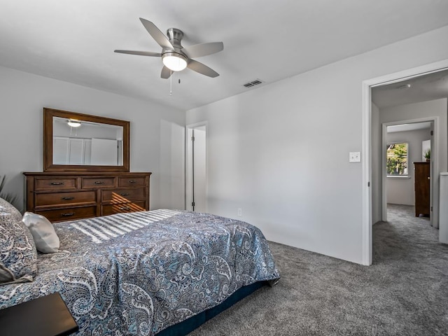
{"type": "Polygon", "coordinates": [[[27,211],[50,222],[149,210],[151,173],[24,172],[27,211]]]}

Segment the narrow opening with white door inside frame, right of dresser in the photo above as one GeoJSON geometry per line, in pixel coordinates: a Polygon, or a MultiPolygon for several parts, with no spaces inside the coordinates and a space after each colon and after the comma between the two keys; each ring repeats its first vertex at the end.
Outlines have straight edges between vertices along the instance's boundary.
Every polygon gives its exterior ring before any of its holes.
{"type": "Polygon", "coordinates": [[[186,209],[207,212],[207,123],[186,128],[186,209]]]}

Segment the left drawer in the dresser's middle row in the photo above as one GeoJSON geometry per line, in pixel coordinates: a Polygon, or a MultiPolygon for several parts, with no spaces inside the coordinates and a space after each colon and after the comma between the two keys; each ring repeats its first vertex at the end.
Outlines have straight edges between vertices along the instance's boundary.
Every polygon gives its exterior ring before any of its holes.
{"type": "Polygon", "coordinates": [[[71,193],[36,193],[34,197],[36,207],[59,206],[64,204],[79,203],[96,203],[97,192],[90,191],[74,191],[71,193]]]}

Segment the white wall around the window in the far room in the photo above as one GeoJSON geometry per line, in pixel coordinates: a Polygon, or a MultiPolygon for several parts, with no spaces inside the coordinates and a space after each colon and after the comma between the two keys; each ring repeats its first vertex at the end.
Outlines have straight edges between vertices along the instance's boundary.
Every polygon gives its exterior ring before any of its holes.
{"type": "Polygon", "coordinates": [[[386,135],[388,143],[407,142],[408,178],[388,177],[386,179],[386,199],[393,204],[415,204],[414,162],[421,162],[421,141],[430,139],[430,130],[392,132],[386,135]]]}

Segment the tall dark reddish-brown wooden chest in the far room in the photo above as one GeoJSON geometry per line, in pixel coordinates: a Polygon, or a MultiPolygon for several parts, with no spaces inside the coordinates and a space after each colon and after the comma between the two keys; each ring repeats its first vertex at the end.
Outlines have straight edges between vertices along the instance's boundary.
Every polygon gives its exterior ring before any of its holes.
{"type": "Polygon", "coordinates": [[[430,216],[430,162],[414,162],[415,216],[430,216]]]}

